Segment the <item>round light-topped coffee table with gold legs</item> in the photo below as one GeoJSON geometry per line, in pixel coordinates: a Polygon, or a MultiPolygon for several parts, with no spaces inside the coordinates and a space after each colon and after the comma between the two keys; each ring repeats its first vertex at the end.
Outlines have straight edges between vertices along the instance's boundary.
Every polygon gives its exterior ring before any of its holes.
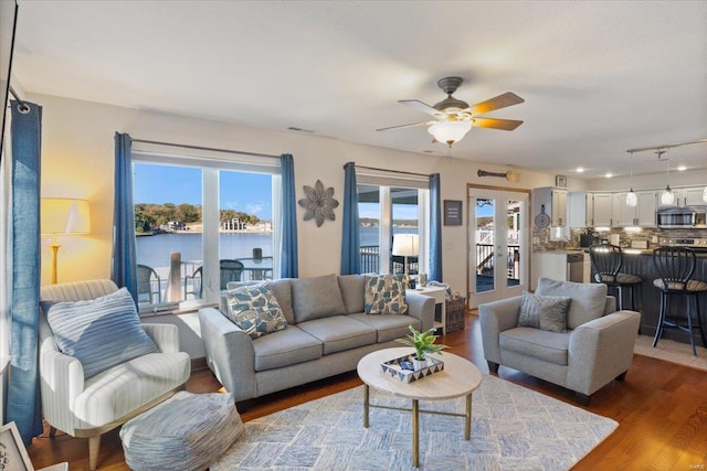
{"type": "Polygon", "coordinates": [[[383,373],[381,364],[414,352],[410,347],[384,349],[369,353],[358,362],[358,376],[363,382],[363,427],[368,428],[370,407],[412,411],[412,465],[420,462],[419,415],[437,414],[443,416],[464,417],[464,438],[472,438],[472,394],[482,384],[482,373],[468,360],[452,353],[432,355],[444,362],[444,370],[428,377],[404,383],[383,373]],[[412,399],[412,408],[378,406],[370,404],[369,387],[390,393],[394,396],[412,399]],[[445,400],[466,396],[466,414],[420,410],[420,400],[445,400]]]}

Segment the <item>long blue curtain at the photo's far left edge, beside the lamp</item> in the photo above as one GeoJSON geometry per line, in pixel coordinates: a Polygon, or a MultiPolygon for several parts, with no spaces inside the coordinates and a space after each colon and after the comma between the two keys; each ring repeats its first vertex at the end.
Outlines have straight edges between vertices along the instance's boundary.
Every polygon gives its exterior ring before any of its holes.
{"type": "Polygon", "coordinates": [[[39,384],[40,163],[42,107],[11,101],[12,108],[12,304],[7,421],[25,446],[42,433],[39,384]]]}

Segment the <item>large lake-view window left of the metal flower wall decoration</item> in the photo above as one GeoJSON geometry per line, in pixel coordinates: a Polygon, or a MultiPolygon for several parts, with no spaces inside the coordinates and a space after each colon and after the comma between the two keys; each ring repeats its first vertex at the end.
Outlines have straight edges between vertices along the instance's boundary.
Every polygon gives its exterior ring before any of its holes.
{"type": "Polygon", "coordinates": [[[279,164],[134,152],[144,312],[215,303],[229,281],[272,278],[279,164]]]}

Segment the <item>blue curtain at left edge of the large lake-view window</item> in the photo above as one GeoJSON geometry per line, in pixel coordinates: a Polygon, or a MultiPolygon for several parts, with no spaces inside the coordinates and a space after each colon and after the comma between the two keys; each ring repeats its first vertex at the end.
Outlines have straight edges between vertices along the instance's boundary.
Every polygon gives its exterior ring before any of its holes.
{"type": "Polygon", "coordinates": [[[113,210],[113,258],[110,279],[126,287],[137,303],[137,253],[133,204],[133,139],[115,133],[115,200],[113,210]]]}

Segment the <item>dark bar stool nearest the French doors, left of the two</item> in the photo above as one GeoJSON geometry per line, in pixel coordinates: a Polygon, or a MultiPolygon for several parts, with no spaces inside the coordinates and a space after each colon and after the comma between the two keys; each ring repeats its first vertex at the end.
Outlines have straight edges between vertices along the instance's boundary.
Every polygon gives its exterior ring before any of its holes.
{"type": "Polygon", "coordinates": [[[621,247],[611,244],[592,245],[589,247],[589,258],[594,271],[594,281],[602,282],[616,290],[619,310],[623,310],[623,290],[629,290],[631,310],[635,311],[634,288],[640,288],[643,279],[636,275],[622,274],[623,254],[621,247]]]}

